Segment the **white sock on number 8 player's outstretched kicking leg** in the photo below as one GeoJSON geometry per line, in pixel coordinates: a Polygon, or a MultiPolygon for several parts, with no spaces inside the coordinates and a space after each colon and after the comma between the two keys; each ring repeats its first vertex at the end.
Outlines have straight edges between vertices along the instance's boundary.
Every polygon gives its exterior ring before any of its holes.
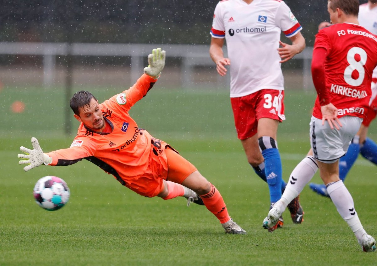
{"type": "Polygon", "coordinates": [[[305,185],[313,178],[317,170],[318,165],[313,156],[302,159],[293,169],[282,197],[274,206],[280,207],[280,211],[283,213],[288,204],[301,193],[305,185]]]}

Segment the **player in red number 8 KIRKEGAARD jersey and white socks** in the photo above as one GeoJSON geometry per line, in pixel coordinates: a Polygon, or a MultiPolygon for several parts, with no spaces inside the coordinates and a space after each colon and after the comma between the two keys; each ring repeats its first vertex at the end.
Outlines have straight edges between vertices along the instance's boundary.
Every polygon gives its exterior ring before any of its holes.
{"type": "Polygon", "coordinates": [[[307,156],[293,170],[282,198],[264,219],[263,227],[277,223],[288,203],[319,168],[331,200],[363,251],[375,251],[375,239],[364,230],[352,196],[339,179],[339,158],[346,153],[368,108],[372,71],[377,65],[377,38],[359,25],[359,1],[329,0],[328,12],[335,25],[316,35],[312,60],[318,94],[310,122],[314,156],[307,156]]]}

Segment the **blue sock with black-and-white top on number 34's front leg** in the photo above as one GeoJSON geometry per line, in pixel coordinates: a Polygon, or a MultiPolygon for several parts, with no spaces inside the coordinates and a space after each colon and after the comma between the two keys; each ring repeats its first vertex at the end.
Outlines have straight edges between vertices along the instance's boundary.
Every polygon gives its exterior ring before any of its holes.
{"type": "Polygon", "coordinates": [[[275,203],[282,196],[282,163],[277,143],[273,138],[263,136],[258,139],[265,163],[265,175],[270,189],[270,201],[275,203]]]}

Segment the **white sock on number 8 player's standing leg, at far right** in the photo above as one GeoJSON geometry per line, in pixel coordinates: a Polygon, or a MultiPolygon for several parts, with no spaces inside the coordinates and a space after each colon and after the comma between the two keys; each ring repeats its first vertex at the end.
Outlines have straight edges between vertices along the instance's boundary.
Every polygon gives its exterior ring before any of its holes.
{"type": "Polygon", "coordinates": [[[354,201],[342,180],[336,181],[327,187],[327,192],[333,201],[336,209],[343,220],[347,222],[348,226],[354,232],[357,241],[361,245],[362,237],[366,234],[357,212],[354,207],[354,201]]]}

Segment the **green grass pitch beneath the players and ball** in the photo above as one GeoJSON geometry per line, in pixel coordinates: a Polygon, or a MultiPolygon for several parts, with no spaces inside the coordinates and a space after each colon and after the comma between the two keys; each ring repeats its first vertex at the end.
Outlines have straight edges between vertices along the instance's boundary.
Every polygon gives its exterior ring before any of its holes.
{"type": "MultiPolygon", "coordinates": [[[[88,90],[100,101],[120,92],[88,90]]],[[[262,228],[268,187],[248,166],[236,139],[228,92],[170,91],[156,85],[131,115],[215,184],[231,217],[247,230],[244,236],[225,234],[204,206],[187,207],[184,198],[144,198],[87,161],[24,172],[18,148],[30,148],[32,136],[46,152],[69,147],[74,138],[74,132],[62,133],[63,91],[4,88],[0,101],[0,265],[376,264],[376,254],[361,251],[331,200],[308,187],[301,193],[303,224],[294,225],[287,211],[283,228],[274,233],[262,228]],[[25,102],[24,113],[9,111],[15,100],[25,102]],[[69,203],[61,210],[48,212],[34,203],[34,184],[45,175],[61,177],[70,187],[69,203]]],[[[285,180],[310,147],[313,102],[313,94],[286,91],[287,121],[278,133],[285,180]]],[[[72,124],[76,129],[77,122],[72,124]]],[[[376,132],[374,126],[370,132],[376,132]]],[[[375,169],[360,157],[345,183],[364,228],[377,237],[375,169]]],[[[320,182],[318,174],[313,181],[320,182]]]]}

